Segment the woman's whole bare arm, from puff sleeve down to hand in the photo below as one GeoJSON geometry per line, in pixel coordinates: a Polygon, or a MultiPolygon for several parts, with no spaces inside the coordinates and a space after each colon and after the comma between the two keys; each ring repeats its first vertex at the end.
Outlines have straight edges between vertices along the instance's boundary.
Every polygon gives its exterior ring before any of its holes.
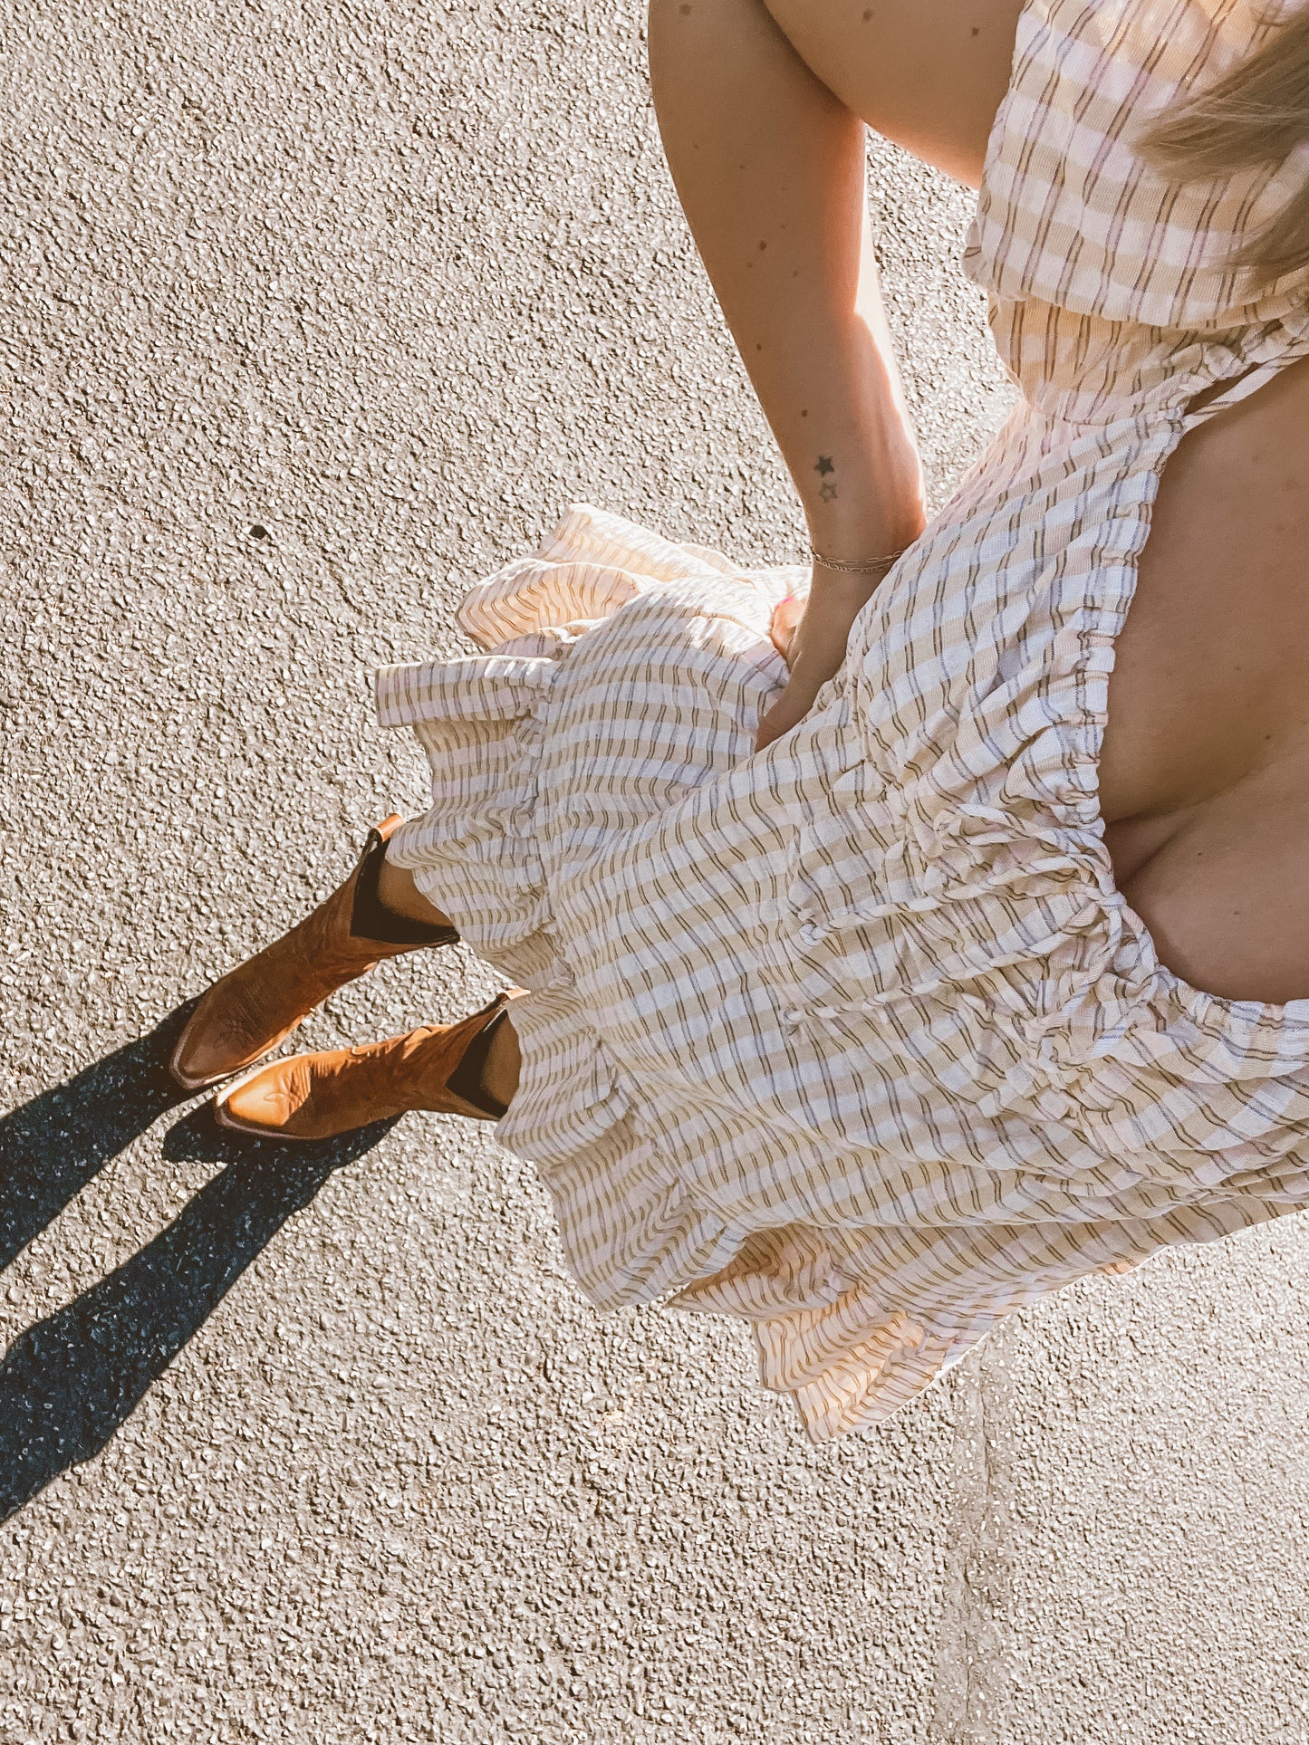
{"type": "MultiPolygon", "coordinates": [[[[864,124],[981,168],[1021,0],[653,0],[668,168],[819,551],[909,544],[922,475],[864,211],[864,124]]],[[[840,665],[871,581],[815,567],[792,726],[840,665]]]]}

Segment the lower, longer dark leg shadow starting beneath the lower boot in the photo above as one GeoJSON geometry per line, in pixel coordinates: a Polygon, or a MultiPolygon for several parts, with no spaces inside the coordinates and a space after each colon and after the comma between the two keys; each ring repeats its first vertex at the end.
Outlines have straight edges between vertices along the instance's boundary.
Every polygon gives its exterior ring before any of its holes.
{"type": "Polygon", "coordinates": [[[230,1159],[227,1169],[148,1248],[5,1352],[0,1520],[99,1454],[291,1213],[309,1204],[333,1169],[372,1150],[389,1126],[295,1150],[225,1134],[208,1108],[173,1127],[166,1155],[230,1159]]]}

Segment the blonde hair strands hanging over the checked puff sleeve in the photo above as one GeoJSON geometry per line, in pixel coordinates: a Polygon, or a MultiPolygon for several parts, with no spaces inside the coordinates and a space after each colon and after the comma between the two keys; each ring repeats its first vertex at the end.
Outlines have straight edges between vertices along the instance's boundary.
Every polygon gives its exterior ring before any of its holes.
{"type": "MultiPolygon", "coordinates": [[[[1309,140],[1309,5],[1276,24],[1248,59],[1164,110],[1138,141],[1176,181],[1281,164],[1309,140]]],[[[1309,263],[1309,180],[1234,257],[1258,288],[1309,263]]]]}

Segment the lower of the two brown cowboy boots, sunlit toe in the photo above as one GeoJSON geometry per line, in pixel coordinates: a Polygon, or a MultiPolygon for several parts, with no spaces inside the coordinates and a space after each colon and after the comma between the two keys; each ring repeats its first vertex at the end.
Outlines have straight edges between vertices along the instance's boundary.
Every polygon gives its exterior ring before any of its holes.
{"type": "Polygon", "coordinates": [[[499,1120],[504,1105],[482,1084],[508,993],[457,1024],[422,1024],[356,1049],[271,1061],[218,1094],[215,1119],[260,1139],[333,1139],[410,1108],[499,1120]]]}

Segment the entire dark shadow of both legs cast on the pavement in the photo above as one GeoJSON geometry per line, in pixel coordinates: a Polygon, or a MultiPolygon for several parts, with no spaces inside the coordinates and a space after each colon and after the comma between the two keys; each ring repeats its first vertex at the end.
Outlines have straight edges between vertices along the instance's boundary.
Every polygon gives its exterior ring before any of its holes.
{"type": "MultiPolygon", "coordinates": [[[[42,1230],[168,1108],[187,1099],[168,1054],[190,1005],[0,1122],[0,1260],[42,1230]]],[[[333,1169],[393,1122],[325,1145],[262,1145],[208,1105],[164,1138],[171,1160],[222,1162],[154,1242],[21,1333],[0,1361],[0,1520],[99,1454],[227,1290],[333,1169]]]]}

